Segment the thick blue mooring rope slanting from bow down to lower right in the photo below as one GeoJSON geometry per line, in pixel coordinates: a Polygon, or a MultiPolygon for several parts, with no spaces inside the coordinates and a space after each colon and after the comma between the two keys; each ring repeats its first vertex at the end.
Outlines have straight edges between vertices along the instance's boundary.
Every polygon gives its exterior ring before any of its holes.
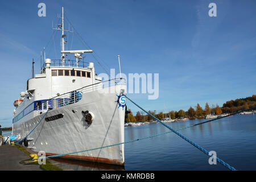
{"type": "MultiPolygon", "coordinates": [[[[167,127],[169,130],[171,130],[173,133],[175,133],[176,135],[178,135],[179,137],[183,138],[184,140],[186,140],[188,143],[192,144],[194,147],[198,148],[199,150],[201,150],[202,152],[204,152],[204,154],[209,155],[209,152],[207,150],[205,150],[204,148],[200,147],[199,145],[197,145],[195,142],[192,142],[191,140],[189,140],[188,138],[184,137],[183,135],[181,135],[180,133],[178,133],[176,130],[172,129],[170,126],[166,125],[165,123],[163,123],[162,121],[160,121],[158,118],[154,117],[154,115],[148,113],[146,110],[144,110],[141,106],[137,105],[135,102],[133,102],[132,100],[130,100],[129,97],[126,96],[126,98],[131,101],[134,105],[136,105],[137,107],[139,107],[140,109],[142,109],[145,113],[147,113],[148,115],[150,115],[152,118],[156,119],[156,121],[158,121],[159,123],[161,123],[163,126],[167,127]]],[[[223,166],[225,166],[226,168],[229,168],[232,171],[236,171],[236,169],[232,166],[230,166],[228,163],[225,163],[223,160],[217,158],[216,156],[216,160],[222,164],[223,166]]]]}

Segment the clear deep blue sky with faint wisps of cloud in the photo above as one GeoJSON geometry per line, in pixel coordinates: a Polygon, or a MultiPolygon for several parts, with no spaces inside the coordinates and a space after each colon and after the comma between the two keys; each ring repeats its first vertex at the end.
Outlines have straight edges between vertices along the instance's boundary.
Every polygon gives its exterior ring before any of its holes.
{"type": "MultiPolygon", "coordinates": [[[[222,106],[255,94],[255,1],[1,1],[3,127],[11,126],[13,102],[26,90],[32,58],[38,73],[40,51],[50,39],[47,57],[60,57],[60,34],[55,36],[54,47],[51,27],[62,5],[106,68],[118,71],[117,55],[121,55],[126,75],[159,73],[158,100],[130,94],[146,110],[187,110],[197,103],[204,107],[205,102],[222,106]],[[46,3],[46,17],[38,16],[40,2],[46,3]],[[208,16],[211,2],[217,5],[217,17],[208,16]]],[[[75,36],[72,49],[84,49],[75,36]]],[[[97,73],[104,72],[95,65],[97,73]]],[[[127,104],[134,113],[138,110],[127,104]]]]}

